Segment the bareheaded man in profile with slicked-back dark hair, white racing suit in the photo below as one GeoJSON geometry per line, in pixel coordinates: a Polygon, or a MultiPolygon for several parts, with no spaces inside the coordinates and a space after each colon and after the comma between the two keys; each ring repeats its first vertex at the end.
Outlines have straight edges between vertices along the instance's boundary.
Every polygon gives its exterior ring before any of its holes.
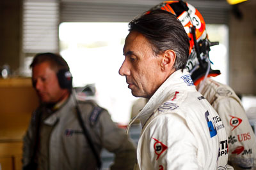
{"type": "Polygon", "coordinates": [[[227,169],[225,127],[184,70],[189,38],[182,24],[156,10],[129,27],[119,74],[133,96],[149,99],[129,124],[139,118],[142,125],[134,169],[227,169]]]}

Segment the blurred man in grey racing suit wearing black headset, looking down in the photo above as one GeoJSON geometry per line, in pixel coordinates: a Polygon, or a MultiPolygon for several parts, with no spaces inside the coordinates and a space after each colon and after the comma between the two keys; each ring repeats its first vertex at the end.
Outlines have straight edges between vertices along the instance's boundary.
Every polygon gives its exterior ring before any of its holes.
{"type": "Polygon", "coordinates": [[[100,151],[115,153],[110,169],[132,169],[136,149],[107,110],[77,101],[67,62],[55,53],[38,53],[32,82],[40,106],[24,136],[23,169],[100,169],[100,151]]]}

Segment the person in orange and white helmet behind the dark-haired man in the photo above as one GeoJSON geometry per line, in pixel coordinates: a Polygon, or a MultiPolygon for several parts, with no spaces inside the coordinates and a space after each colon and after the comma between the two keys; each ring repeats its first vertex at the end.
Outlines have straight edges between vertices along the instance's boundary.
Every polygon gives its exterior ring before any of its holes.
{"type": "Polygon", "coordinates": [[[164,1],[152,10],[161,9],[177,16],[190,38],[187,70],[196,89],[211,103],[225,125],[228,136],[228,164],[234,169],[256,169],[256,139],[241,100],[234,90],[211,77],[220,75],[211,69],[212,43],[207,37],[204,18],[194,6],[183,1],[164,1]]]}

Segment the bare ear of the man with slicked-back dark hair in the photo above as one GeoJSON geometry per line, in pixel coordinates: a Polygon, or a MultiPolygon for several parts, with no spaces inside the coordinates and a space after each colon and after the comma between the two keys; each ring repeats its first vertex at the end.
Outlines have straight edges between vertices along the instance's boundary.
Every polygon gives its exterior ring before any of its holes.
{"type": "Polygon", "coordinates": [[[171,70],[174,66],[176,53],[173,50],[166,50],[162,53],[161,70],[171,70]]]}

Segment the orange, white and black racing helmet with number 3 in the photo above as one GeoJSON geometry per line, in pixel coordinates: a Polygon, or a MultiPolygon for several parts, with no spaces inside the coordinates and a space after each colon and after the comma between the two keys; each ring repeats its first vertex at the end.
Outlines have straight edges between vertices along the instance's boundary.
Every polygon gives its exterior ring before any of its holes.
{"type": "Polygon", "coordinates": [[[210,46],[218,45],[218,42],[209,41],[205,29],[205,21],[201,13],[191,4],[184,1],[163,1],[151,8],[164,10],[176,15],[183,25],[189,37],[189,59],[186,69],[191,74],[194,84],[197,85],[204,77],[218,76],[219,70],[211,69],[209,60],[210,46]]]}

